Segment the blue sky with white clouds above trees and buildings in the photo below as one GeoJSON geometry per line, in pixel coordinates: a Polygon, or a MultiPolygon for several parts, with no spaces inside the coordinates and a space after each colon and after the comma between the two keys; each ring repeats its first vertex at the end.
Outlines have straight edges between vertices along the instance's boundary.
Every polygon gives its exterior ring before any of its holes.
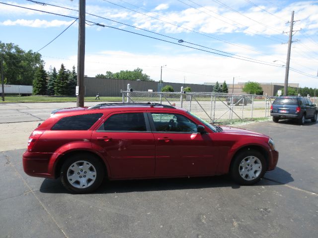
{"type": "MultiPolygon", "coordinates": [[[[77,11],[32,1],[0,1],[78,17],[77,11]]],[[[38,1],[70,9],[78,9],[79,4],[78,0],[38,1]]],[[[162,68],[165,82],[232,83],[235,77],[235,82],[283,83],[287,44],[282,43],[288,41],[283,31],[289,32],[286,23],[293,10],[294,30],[302,30],[293,36],[298,41],[292,44],[294,71],[289,82],[317,88],[318,0],[86,0],[86,13],[99,17],[86,15],[90,22],[86,25],[85,74],[140,67],[159,81],[160,66],[166,65],[162,68]]],[[[75,20],[5,4],[0,4],[0,12],[0,41],[26,51],[38,51],[75,20]]],[[[59,69],[61,63],[71,69],[77,65],[77,47],[76,21],[39,53],[47,70],[50,66],[59,69]]]]}

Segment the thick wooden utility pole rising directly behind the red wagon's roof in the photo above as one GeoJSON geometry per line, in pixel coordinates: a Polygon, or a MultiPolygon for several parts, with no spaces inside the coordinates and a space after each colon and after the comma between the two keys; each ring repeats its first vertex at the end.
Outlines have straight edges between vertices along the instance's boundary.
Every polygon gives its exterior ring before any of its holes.
{"type": "Polygon", "coordinates": [[[79,0],[79,45],[78,45],[78,83],[77,107],[84,107],[84,63],[85,63],[85,0],[79,0]]]}

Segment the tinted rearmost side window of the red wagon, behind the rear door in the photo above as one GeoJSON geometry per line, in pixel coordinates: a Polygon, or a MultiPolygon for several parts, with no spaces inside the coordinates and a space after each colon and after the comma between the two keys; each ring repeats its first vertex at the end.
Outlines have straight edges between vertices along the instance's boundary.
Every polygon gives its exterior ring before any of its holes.
{"type": "Polygon", "coordinates": [[[102,116],[102,113],[96,113],[62,118],[51,130],[88,130],[102,116]]]}

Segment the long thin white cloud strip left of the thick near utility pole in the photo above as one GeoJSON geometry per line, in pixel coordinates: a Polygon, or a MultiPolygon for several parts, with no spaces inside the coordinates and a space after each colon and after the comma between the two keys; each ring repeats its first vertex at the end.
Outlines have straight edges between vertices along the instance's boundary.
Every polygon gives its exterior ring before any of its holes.
{"type": "Polygon", "coordinates": [[[25,19],[18,19],[15,21],[6,20],[0,22],[0,25],[3,26],[28,26],[28,27],[37,27],[37,28],[48,28],[48,27],[60,27],[60,26],[69,26],[73,21],[60,21],[60,20],[25,20],[25,19]]]}

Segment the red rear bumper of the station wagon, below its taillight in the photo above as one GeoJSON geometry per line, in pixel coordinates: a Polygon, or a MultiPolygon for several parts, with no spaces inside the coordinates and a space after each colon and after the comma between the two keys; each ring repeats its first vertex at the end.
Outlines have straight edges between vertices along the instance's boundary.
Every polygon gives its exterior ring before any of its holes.
{"type": "Polygon", "coordinates": [[[51,155],[51,153],[34,153],[25,151],[22,156],[23,170],[25,174],[32,177],[54,179],[54,175],[48,171],[51,155]]]}

